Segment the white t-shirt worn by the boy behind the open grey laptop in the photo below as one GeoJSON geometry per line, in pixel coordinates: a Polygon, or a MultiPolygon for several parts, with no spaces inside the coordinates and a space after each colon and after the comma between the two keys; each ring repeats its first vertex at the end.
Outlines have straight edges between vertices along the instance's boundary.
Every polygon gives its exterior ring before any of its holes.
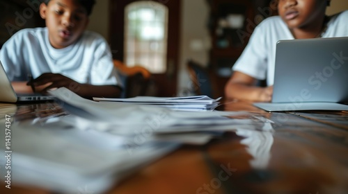
{"type": "MultiPolygon", "coordinates": [[[[322,37],[347,37],[348,11],[330,17],[322,37]]],[[[279,17],[264,19],[254,30],[248,45],[232,67],[258,80],[267,78],[267,85],[274,83],[276,42],[280,39],[294,39],[285,22],[279,17]]]]}

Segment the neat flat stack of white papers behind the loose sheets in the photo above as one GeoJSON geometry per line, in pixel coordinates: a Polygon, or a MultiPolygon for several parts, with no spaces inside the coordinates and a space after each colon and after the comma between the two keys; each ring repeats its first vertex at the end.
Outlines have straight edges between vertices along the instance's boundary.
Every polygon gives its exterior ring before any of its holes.
{"type": "Polygon", "coordinates": [[[219,105],[220,98],[212,99],[208,96],[187,96],[187,97],[152,97],[137,96],[134,98],[93,98],[95,101],[108,101],[116,103],[129,103],[136,105],[157,105],[175,110],[200,111],[212,110],[219,105]]]}

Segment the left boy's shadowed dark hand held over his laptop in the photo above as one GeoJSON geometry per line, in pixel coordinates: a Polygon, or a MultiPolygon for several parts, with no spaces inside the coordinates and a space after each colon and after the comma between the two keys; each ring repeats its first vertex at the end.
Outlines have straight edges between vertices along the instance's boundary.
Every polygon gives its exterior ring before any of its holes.
{"type": "Polygon", "coordinates": [[[41,76],[35,78],[26,85],[33,84],[35,87],[42,87],[42,93],[47,93],[48,89],[55,89],[59,87],[66,87],[71,91],[77,92],[81,89],[81,84],[70,78],[67,78],[59,73],[42,73],[41,76]]]}

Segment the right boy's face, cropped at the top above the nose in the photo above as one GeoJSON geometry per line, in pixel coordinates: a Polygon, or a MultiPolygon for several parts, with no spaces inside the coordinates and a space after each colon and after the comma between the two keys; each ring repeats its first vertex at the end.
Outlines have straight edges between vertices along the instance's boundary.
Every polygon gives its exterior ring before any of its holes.
{"type": "Polygon", "coordinates": [[[306,29],[323,18],[327,0],[278,0],[278,13],[287,26],[306,29]]]}

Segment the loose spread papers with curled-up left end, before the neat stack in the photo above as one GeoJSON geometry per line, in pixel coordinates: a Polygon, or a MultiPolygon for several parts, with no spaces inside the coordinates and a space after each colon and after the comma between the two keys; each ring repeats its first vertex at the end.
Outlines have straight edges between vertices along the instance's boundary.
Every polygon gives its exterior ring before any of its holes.
{"type": "Polygon", "coordinates": [[[70,125],[80,130],[97,130],[122,136],[135,136],[134,141],[156,139],[157,133],[209,132],[235,130],[238,127],[255,130],[261,128],[267,118],[248,116],[244,119],[229,118],[243,112],[177,112],[173,109],[152,105],[114,102],[95,102],[77,96],[72,91],[60,88],[50,94],[58,103],[76,115],[70,125]]]}

